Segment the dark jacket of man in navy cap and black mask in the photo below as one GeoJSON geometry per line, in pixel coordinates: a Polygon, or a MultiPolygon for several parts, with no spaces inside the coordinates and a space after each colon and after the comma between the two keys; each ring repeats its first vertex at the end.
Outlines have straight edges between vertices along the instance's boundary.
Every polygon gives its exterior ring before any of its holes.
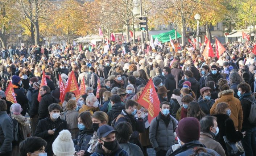
{"type": "Polygon", "coordinates": [[[102,144],[97,144],[95,148],[95,152],[92,153],[91,156],[129,156],[128,153],[119,146],[117,143],[117,146],[115,149],[113,149],[110,153],[105,153],[104,150],[102,149],[102,144]]]}

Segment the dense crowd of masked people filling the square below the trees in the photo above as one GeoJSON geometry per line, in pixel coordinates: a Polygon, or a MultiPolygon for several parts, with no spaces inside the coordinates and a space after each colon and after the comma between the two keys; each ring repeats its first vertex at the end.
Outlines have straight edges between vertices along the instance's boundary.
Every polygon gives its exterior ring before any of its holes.
{"type": "Polygon", "coordinates": [[[255,42],[224,43],[219,58],[202,56],[205,45],[105,44],[2,49],[0,156],[228,156],[226,140],[256,156],[255,42]],[[59,76],[65,86],[73,72],[86,93],[61,102],[59,76]],[[160,112],[146,126],[137,100],[150,79],[160,112]]]}

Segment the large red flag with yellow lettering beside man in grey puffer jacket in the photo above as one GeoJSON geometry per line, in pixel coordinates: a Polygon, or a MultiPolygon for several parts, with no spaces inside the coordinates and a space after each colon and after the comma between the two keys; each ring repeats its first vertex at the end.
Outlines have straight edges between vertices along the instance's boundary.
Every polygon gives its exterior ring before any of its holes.
{"type": "Polygon", "coordinates": [[[146,87],[141,93],[137,102],[148,109],[148,122],[150,123],[153,118],[157,117],[160,112],[160,101],[158,99],[156,89],[154,88],[154,84],[152,79],[148,81],[146,87]]]}

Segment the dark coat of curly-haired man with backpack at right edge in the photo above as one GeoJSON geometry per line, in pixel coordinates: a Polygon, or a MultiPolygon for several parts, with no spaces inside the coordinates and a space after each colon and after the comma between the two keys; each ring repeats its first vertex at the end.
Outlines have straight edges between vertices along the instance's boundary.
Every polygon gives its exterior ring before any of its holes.
{"type": "Polygon", "coordinates": [[[253,101],[253,97],[250,95],[250,96],[244,96],[240,102],[241,102],[241,105],[242,105],[242,109],[243,109],[243,126],[242,126],[242,132],[243,131],[246,131],[248,129],[251,129],[253,127],[256,127],[256,125],[254,124],[251,124],[248,120],[249,118],[249,115],[250,115],[250,110],[251,110],[251,106],[252,106],[252,103],[245,99],[245,98],[248,98],[249,100],[253,101]]]}

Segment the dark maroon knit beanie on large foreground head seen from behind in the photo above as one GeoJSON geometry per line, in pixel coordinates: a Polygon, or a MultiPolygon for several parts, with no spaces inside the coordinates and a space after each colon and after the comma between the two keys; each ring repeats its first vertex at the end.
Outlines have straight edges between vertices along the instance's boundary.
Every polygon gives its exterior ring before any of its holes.
{"type": "Polygon", "coordinates": [[[200,123],[197,118],[187,117],[179,121],[178,127],[175,130],[179,140],[183,143],[189,143],[194,140],[199,140],[200,123]]]}

